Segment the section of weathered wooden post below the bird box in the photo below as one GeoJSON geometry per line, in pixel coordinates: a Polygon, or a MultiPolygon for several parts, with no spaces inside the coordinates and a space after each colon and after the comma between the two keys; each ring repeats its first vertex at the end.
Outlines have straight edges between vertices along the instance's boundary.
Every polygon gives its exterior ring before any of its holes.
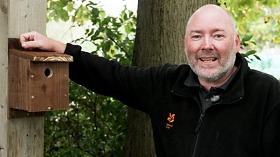
{"type": "Polygon", "coordinates": [[[9,119],[8,157],[43,157],[44,117],[9,119]]]}

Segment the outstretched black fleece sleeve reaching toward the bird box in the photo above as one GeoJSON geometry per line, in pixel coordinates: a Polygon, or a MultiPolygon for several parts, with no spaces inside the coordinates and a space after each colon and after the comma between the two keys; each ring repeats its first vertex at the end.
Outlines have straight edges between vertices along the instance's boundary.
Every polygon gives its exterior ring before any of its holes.
{"type": "Polygon", "coordinates": [[[122,66],[93,54],[82,52],[78,45],[66,45],[65,54],[73,56],[69,77],[97,94],[111,96],[142,112],[151,112],[162,78],[161,68],[122,66]],[[156,83],[155,83],[156,82],[156,83]]]}

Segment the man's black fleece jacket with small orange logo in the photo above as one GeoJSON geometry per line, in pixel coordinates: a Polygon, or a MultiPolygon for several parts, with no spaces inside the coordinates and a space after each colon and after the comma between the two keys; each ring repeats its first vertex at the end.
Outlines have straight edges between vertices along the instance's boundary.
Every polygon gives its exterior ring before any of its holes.
{"type": "Polygon", "coordinates": [[[65,53],[71,80],[149,114],[158,157],[280,156],[280,84],[239,53],[240,70],[204,114],[199,88],[184,85],[188,65],[121,66],[71,44],[65,53]]]}

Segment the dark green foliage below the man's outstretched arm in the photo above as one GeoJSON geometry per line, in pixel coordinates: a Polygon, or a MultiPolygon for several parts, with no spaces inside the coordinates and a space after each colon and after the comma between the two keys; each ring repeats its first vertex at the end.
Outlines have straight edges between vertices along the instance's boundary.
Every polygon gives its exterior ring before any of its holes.
{"type": "Polygon", "coordinates": [[[122,156],[126,106],[69,85],[70,109],[45,117],[44,156],[122,156]]]}

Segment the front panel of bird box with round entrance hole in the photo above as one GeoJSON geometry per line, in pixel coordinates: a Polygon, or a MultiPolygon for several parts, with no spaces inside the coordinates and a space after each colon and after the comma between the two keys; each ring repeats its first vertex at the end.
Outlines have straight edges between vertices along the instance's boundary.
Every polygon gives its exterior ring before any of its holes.
{"type": "Polygon", "coordinates": [[[30,66],[29,112],[66,110],[69,74],[66,62],[35,62],[30,66]]]}

